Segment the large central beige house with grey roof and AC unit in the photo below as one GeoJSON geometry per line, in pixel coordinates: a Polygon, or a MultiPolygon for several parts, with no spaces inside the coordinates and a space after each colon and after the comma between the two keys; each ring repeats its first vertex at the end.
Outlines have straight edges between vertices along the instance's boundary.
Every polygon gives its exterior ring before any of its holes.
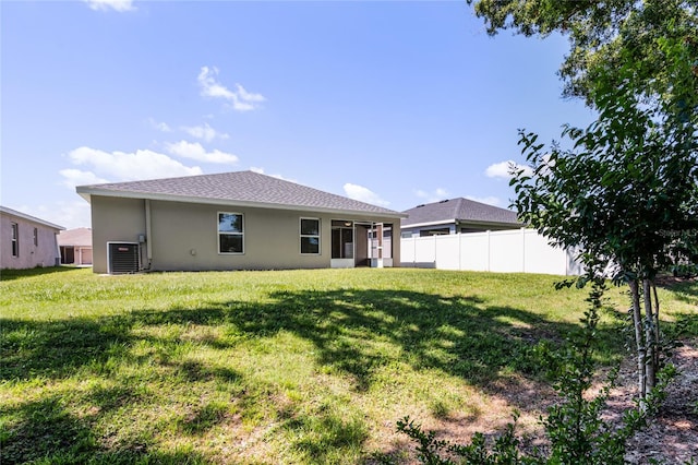
{"type": "Polygon", "coordinates": [[[80,186],[93,271],[399,265],[406,215],[253,171],[80,186]]]}

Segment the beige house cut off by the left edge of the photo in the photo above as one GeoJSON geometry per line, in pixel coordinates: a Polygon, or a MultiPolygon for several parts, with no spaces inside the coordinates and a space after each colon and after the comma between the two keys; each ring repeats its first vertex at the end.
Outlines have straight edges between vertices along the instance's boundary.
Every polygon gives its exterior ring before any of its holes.
{"type": "Polygon", "coordinates": [[[53,223],[0,206],[0,269],[59,265],[56,236],[63,229],[53,223]]]}

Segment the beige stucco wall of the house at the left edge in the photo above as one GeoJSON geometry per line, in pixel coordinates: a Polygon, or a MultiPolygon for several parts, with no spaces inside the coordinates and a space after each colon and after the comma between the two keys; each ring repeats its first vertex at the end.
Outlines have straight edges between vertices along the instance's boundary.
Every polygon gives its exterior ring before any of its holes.
{"type": "Polygon", "coordinates": [[[56,235],[59,229],[7,213],[0,214],[0,269],[33,269],[56,266],[60,262],[56,235]],[[17,224],[19,254],[12,257],[12,223],[17,224]],[[34,228],[37,228],[38,245],[34,245],[34,228]]]}

